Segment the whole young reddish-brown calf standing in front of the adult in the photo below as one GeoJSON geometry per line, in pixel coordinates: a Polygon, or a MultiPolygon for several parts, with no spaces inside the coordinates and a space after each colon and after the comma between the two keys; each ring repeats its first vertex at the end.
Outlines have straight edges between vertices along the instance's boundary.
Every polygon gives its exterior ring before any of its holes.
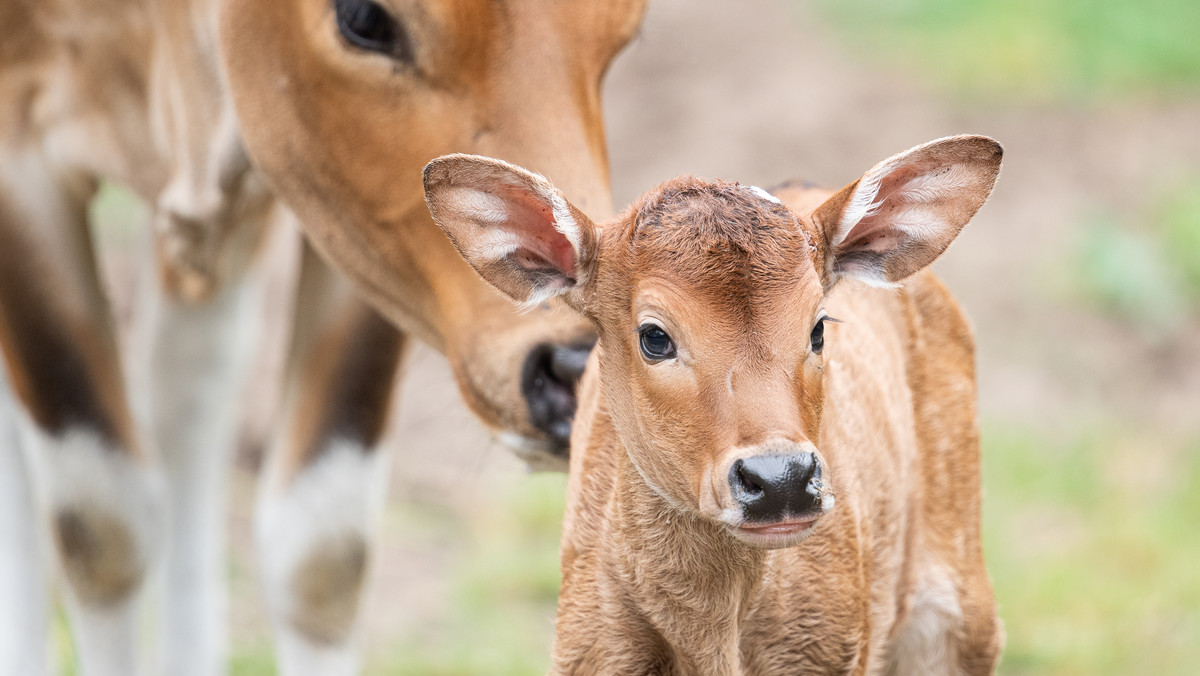
{"type": "Polygon", "coordinates": [[[554,672],[994,669],[973,343],[923,270],[1001,154],[944,138],[832,195],[680,178],[604,227],[518,167],[426,167],[485,279],[599,331],[554,672]]]}

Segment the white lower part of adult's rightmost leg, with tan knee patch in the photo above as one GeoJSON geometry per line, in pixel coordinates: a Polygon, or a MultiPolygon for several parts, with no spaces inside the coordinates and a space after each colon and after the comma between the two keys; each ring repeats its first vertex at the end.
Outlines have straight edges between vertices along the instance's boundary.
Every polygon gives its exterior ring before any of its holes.
{"type": "Polygon", "coordinates": [[[280,674],[353,675],[366,545],[386,491],[388,454],[335,439],[300,472],[283,485],[272,465],[259,492],[259,566],[278,632],[280,674]]]}

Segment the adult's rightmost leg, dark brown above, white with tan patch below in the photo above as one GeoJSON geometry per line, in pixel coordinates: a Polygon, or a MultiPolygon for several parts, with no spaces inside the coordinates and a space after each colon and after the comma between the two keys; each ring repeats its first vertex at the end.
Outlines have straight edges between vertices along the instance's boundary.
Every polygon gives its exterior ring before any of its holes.
{"type": "Polygon", "coordinates": [[[286,676],[359,670],[359,606],[388,479],[380,439],[406,342],[305,246],[284,419],[257,514],[286,676]]]}

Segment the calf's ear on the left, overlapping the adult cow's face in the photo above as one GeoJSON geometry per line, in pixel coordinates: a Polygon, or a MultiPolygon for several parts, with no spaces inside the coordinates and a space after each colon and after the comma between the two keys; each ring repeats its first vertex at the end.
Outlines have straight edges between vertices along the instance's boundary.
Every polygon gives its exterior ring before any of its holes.
{"type": "Polygon", "coordinates": [[[444,155],[425,167],[425,201],[458,253],[527,309],[590,277],[595,226],[533,172],[479,155],[444,155]]]}

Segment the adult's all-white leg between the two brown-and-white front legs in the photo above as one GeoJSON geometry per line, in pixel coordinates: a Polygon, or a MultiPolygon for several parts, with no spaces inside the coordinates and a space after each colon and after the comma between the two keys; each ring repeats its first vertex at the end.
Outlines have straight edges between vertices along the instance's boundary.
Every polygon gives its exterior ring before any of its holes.
{"type": "Polygon", "coordinates": [[[204,300],[178,298],[158,285],[148,285],[140,299],[149,349],[136,371],[137,391],[146,393],[146,418],[167,483],[158,638],[164,674],[173,676],[228,669],[226,496],[239,395],[258,346],[263,285],[244,269],[227,273],[204,300]]]}

